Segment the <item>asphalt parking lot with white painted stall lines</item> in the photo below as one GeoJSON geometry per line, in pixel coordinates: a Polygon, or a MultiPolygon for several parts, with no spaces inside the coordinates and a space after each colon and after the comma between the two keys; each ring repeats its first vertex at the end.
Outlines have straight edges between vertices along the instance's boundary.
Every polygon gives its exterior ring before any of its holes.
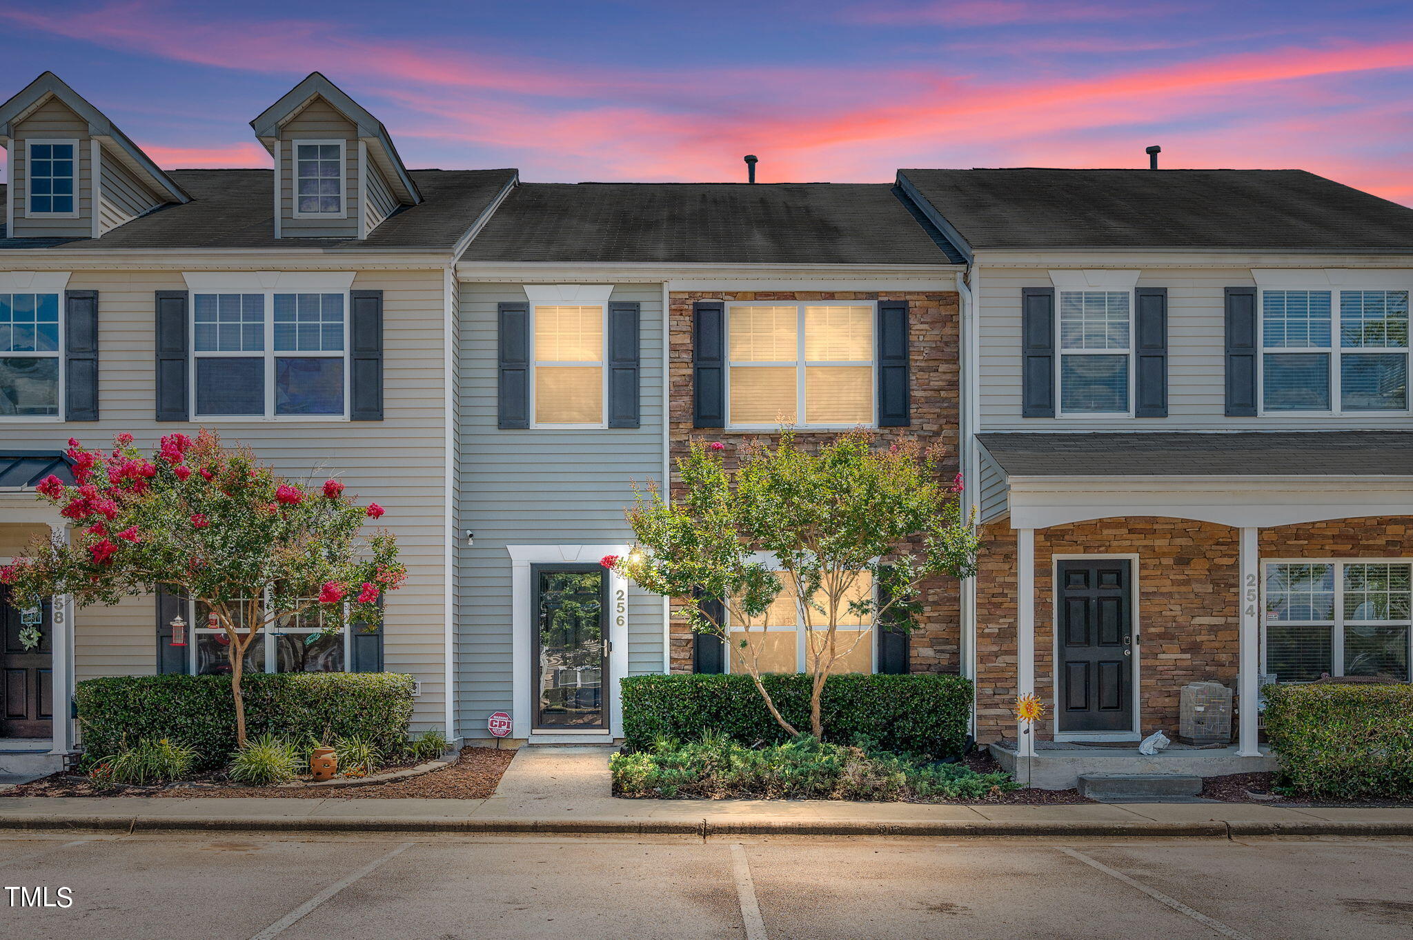
{"type": "Polygon", "coordinates": [[[34,940],[1413,936],[1413,840],[10,833],[0,886],[34,940]]]}

